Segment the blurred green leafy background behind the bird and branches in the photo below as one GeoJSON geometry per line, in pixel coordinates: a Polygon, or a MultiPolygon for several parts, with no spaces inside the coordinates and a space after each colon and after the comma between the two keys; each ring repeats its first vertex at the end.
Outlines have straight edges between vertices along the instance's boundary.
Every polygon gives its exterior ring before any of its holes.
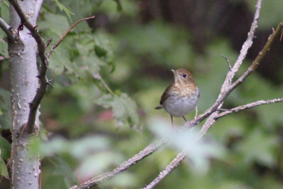
{"type": "MultiPolygon", "coordinates": [[[[69,188],[112,171],[161,137],[169,145],[100,188],[142,188],[184,146],[188,158],[156,188],[283,188],[282,104],[220,118],[199,143],[193,135],[201,125],[172,134],[170,116],[154,109],[173,80],[170,69],[181,67],[194,74],[200,89],[199,113],[214,103],[228,71],[221,54],[235,62],[255,4],[255,0],[44,1],[37,24],[46,41],[53,38],[50,47],[77,20],[96,17],[74,27],[50,56],[48,78],[55,88],[48,89],[41,103],[41,134],[32,146],[41,154],[42,188],[69,188]]],[[[282,20],[280,5],[280,0],[262,2],[257,38],[236,77],[282,20]]],[[[8,22],[7,2],[0,6],[1,18],[8,22]]],[[[0,53],[7,57],[3,31],[0,35],[0,53]]],[[[282,50],[278,39],[257,72],[228,96],[224,108],[282,97],[282,50]]],[[[7,59],[0,61],[0,68],[4,136],[11,127],[7,59]]],[[[194,112],[186,116],[193,117],[194,112]]],[[[174,118],[174,124],[184,121],[174,118]]],[[[10,146],[3,137],[0,141],[1,158],[7,160],[10,146]]],[[[1,174],[7,175],[3,160],[0,165],[1,174]]]]}

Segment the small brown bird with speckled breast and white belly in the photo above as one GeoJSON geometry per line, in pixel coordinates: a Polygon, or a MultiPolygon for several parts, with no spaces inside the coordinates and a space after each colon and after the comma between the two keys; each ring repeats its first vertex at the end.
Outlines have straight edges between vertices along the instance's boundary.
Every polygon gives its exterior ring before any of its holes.
{"type": "MultiPolygon", "coordinates": [[[[200,90],[194,83],[192,73],[186,69],[173,71],[174,81],[166,88],[160,99],[160,105],[155,109],[162,109],[171,116],[173,127],[173,117],[184,117],[196,107],[200,90]]],[[[173,127],[174,128],[174,127],[173,127]]]]}

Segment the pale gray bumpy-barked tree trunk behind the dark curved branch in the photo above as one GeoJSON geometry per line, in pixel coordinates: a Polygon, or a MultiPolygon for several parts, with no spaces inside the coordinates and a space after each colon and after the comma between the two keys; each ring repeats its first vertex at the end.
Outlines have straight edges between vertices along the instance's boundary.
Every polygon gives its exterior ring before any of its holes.
{"type": "MultiPolygon", "coordinates": [[[[42,0],[18,1],[29,22],[35,25],[42,0]]],[[[16,30],[20,18],[10,5],[10,26],[16,30]]],[[[29,152],[29,137],[37,135],[39,111],[32,134],[23,132],[29,116],[29,103],[35,97],[38,88],[38,70],[36,63],[36,42],[24,27],[14,41],[8,40],[10,87],[13,111],[12,153],[10,160],[11,188],[38,188],[39,158],[29,152]]]]}

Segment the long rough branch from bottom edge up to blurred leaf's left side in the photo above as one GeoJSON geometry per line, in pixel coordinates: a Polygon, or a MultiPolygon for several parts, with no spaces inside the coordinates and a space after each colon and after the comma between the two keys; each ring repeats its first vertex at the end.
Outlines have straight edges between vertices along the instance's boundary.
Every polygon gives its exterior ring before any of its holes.
{"type": "Polygon", "coordinates": [[[73,186],[70,189],[87,189],[91,188],[93,186],[97,186],[101,182],[105,181],[106,179],[111,179],[112,177],[116,176],[117,174],[127,170],[132,165],[135,165],[137,162],[142,160],[143,158],[149,156],[162,146],[164,146],[167,143],[166,140],[161,139],[160,141],[150,144],[147,147],[145,147],[142,151],[140,151],[138,154],[136,154],[134,157],[130,158],[126,162],[122,163],[119,167],[114,169],[112,172],[104,173],[102,175],[99,175],[97,177],[94,177],[91,180],[88,180],[87,182],[81,184],[80,186],[73,186]]]}

